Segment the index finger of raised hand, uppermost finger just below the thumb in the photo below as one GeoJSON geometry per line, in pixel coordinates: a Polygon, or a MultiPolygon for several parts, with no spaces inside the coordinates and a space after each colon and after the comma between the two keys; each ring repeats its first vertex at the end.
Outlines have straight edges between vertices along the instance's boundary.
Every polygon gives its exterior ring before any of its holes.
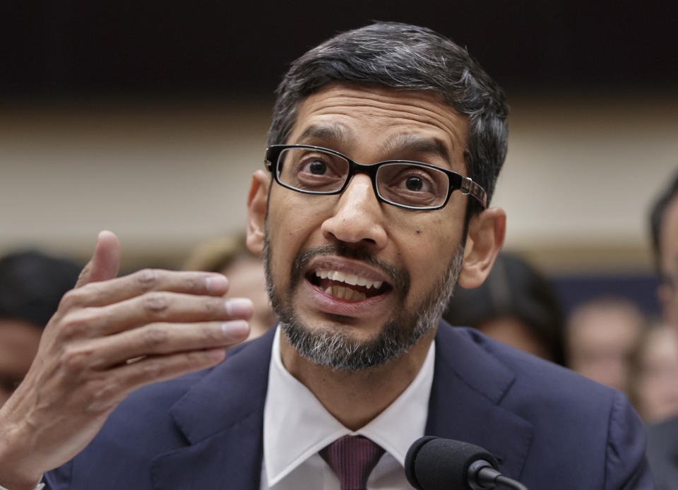
{"type": "Polygon", "coordinates": [[[74,289],[67,294],[65,304],[69,308],[105,306],[153,291],[223,296],[228,291],[228,280],[218,273],[143,269],[105,283],[91,282],[74,289]]]}

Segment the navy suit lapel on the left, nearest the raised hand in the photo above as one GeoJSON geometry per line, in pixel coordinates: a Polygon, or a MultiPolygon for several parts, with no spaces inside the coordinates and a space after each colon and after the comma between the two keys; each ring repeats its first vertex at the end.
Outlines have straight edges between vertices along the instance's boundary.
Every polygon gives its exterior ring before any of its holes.
{"type": "Polygon", "coordinates": [[[187,446],[153,460],[153,489],[259,489],[273,330],[230,352],[172,406],[187,446]]]}

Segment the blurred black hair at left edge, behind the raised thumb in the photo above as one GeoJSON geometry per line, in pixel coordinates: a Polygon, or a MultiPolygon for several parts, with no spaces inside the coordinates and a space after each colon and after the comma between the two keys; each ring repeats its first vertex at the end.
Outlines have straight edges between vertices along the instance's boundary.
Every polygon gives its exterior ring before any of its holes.
{"type": "Polygon", "coordinates": [[[79,273],[77,265],[35,251],[0,258],[0,318],[44,328],[79,273]]]}

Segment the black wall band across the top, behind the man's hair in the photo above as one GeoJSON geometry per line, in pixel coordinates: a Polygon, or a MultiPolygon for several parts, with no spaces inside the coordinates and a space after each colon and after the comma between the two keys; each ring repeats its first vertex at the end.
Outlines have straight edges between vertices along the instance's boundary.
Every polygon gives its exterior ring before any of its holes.
{"type": "Polygon", "coordinates": [[[427,25],[515,91],[676,90],[678,2],[35,0],[0,6],[0,96],[270,95],[370,20],[427,25]]]}

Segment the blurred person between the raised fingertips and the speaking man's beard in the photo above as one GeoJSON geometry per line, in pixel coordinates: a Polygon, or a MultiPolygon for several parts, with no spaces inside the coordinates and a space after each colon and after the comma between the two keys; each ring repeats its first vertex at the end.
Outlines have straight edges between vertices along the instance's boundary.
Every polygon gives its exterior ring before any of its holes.
{"type": "Polygon", "coordinates": [[[247,340],[263,335],[278,321],[266,292],[263,262],[247,249],[244,234],[204,241],[194,249],[183,269],[222,273],[228,277],[227,296],[252,300],[254,313],[247,340]]]}

